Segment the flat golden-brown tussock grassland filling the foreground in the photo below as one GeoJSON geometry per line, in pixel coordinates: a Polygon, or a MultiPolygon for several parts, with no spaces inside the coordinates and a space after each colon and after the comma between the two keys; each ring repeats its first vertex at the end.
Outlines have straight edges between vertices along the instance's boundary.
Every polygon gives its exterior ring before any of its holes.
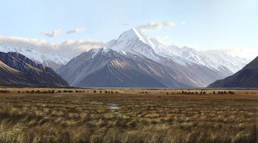
{"type": "Polygon", "coordinates": [[[10,91],[0,94],[0,142],[258,141],[255,90],[223,95],[218,91],[230,90],[70,89],[73,93],[52,94],[26,91],[68,89],[0,90],[10,91]]]}

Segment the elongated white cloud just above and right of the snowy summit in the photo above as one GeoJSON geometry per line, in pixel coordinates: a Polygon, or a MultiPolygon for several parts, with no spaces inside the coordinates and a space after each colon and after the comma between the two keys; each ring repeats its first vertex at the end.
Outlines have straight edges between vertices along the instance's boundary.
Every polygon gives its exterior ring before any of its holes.
{"type": "Polygon", "coordinates": [[[153,29],[161,29],[161,28],[167,28],[167,27],[173,27],[175,26],[174,22],[167,21],[167,22],[150,22],[145,25],[140,25],[136,27],[136,29],[141,30],[141,31],[148,31],[148,30],[153,30],[153,29]]]}

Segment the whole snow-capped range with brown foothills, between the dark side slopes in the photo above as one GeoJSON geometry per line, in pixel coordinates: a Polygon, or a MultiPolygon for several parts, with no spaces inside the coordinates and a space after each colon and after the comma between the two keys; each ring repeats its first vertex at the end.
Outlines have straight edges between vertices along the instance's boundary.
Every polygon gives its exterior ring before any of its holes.
{"type": "Polygon", "coordinates": [[[26,58],[14,53],[9,55],[21,58],[43,72],[51,73],[52,70],[44,71],[43,66],[51,67],[71,86],[77,87],[207,87],[232,76],[250,62],[214,50],[168,46],[135,28],[108,42],[106,48],[91,49],[71,60],[30,47],[1,43],[0,51],[19,52],[26,58]]]}

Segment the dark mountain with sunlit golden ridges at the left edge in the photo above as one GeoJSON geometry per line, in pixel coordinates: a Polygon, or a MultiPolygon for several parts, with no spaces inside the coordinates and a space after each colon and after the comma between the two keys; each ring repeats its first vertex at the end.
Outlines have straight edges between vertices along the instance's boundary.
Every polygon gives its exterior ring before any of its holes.
{"type": "Polygon", "coordinates": [[[37,86],[69,86],[50,67],[38,64],[18,52],[0,52],[1,83],[37,86]]]}

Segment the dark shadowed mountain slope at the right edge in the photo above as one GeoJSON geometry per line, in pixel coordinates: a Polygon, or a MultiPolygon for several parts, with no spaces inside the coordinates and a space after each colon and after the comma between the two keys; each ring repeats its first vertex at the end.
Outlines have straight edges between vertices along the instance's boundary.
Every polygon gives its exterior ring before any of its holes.
{"type": "Polygon", "coordinates": [[[258,88],[258,56],[234,75],[218,80],[207,88],[258,88]]]}

